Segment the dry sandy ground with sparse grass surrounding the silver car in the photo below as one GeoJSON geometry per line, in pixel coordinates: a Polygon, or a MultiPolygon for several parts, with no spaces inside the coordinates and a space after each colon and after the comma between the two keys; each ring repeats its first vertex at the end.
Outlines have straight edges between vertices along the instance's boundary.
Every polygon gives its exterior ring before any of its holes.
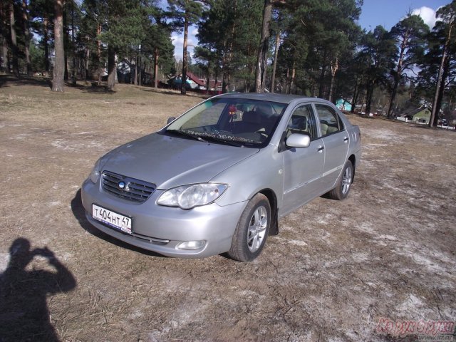
{"type": "Polygon", "coordinates": [[[79,191],[100,155],[201,98],[0,81],[0,341],[455,341],[437,322],[455,329],[456,132],[350,115],[346,201],[281,219],[249,264],[171,259],[98,233],[79,191]]]}

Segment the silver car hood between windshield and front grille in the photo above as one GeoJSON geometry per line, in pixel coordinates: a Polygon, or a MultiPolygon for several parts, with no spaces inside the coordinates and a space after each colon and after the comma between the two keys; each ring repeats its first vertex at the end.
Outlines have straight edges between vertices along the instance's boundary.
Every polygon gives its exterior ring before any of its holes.
{"type": "Polygon", "coordinates": [[[169,189],[208,182],[259,149],[201,142],[159,133],[128,142],[108,153],[103,170],[169,189]]]}

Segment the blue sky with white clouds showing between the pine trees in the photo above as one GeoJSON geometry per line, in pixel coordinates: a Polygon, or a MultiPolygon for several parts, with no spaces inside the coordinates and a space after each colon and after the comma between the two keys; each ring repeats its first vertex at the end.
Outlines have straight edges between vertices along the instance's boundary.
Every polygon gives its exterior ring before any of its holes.
{"type": "MultiPolygon", "coordinates": [[[[388,31],[403,19],[409,11],[418,14],[432,28],[435,24],[435,11],[441,6],[450,4],[451,0],[364,0],[358,24],[366,31],[382,25],[388,31]]],[[[196,26],[189,28],[188,51],[193,54],[194,46],[198,45],[196,26]]],[[[175,46],[175,58],[182,60],[183,33],[173,33],[172,43],[175,46]]]]}

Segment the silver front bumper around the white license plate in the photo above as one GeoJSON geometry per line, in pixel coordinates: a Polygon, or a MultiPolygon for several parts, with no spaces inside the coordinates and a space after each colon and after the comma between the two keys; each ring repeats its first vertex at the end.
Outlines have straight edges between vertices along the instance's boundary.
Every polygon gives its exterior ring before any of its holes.
{"type": "Polygon", "coordinates": [[[156,204],[162,190],[156,190],[142,204],[110,195],[100,189],[100,182],[83,183],[81,197],[90,224],[115,239],[167,257],[202,258],[227,252],[237,222],[247,202],[227,206],[216,203],[184,210],[156,204]],[[92,204],[130,217],[132,234],[93,219],[92,204]],[[204,242],[198,249],[180,249],[182,242],[204,242]]]}

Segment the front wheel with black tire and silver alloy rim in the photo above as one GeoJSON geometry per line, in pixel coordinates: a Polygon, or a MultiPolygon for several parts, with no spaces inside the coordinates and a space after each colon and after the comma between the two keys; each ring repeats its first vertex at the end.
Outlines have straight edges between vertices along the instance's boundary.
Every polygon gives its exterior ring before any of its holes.
{"type": "Polygon", "coordinates": [[[242,212],[234,232],[230,258],[247,262],[259,256],[271,227],[271,204],[266,196],[255,195],[242,212]]]}

